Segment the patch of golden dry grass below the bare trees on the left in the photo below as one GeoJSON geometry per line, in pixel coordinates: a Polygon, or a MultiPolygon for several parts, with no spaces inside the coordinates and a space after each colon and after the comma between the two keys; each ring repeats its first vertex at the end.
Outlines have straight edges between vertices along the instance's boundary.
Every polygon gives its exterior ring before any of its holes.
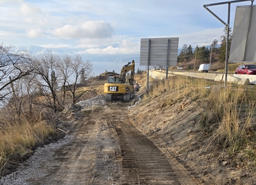
{"type": "MultiPolygon", "coordinates": [[[[39,115],[38,115],[39,118],[39,115]]],[[[24,156],[31,153],[32,146],[53,134],[53,125],[45,121],[31,122],[22,116],[19,124],[2,119],[4,127],[0,130],[0,166],[4,166],[13,155],[24,156]]]]}

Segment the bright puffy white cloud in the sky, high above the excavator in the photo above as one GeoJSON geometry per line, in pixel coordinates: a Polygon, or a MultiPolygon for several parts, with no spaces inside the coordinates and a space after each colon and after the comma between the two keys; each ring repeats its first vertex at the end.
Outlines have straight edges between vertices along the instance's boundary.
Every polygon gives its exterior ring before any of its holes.
{"type": "Polygon", "coordinates": [[[80,25],[66,24],[54,29],[53,34],[59,38],[108,38],[112,35],[111,24],[105,21],[86,21],[80,25]]]}

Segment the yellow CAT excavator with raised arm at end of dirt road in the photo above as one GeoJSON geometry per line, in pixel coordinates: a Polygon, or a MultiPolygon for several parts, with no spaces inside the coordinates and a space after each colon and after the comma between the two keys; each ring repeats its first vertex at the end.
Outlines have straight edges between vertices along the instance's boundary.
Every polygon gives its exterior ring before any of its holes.
{"type": "Polygon", "coordinates": [[[129,62],[121,69],[119,76],[108,76],[108,82],[104,84],[105,101],[112,101],[112,98],[119,96],[124,102],[129,102],[135,94],[133,88],[135,72],[135,61],[129,62]],[[126,75],[130,71],[130,75],[126,75]]]}

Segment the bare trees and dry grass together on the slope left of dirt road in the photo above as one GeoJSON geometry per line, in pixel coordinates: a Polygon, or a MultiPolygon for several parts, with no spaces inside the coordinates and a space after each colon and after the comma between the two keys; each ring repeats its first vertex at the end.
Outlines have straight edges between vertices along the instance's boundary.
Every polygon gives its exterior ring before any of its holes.
{"type": "Polygon", "coordinates": [[[14,53],[0,45],[0,175],[56,132],[57,115],[95,96],[92,63],[80,55],[14,53]]]}

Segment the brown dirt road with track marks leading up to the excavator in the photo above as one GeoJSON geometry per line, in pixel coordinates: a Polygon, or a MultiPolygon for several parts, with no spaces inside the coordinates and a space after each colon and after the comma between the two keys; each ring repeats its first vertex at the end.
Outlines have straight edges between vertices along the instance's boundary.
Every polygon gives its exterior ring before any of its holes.
{"type": "Polygon", "coordinates": [[[30,175],[10,184],[199,184],[133,127],[127,104],[87,107],[75,116],[65,143],[44,153],[46,160],[28,162],[19,174],[30,175]]]}

